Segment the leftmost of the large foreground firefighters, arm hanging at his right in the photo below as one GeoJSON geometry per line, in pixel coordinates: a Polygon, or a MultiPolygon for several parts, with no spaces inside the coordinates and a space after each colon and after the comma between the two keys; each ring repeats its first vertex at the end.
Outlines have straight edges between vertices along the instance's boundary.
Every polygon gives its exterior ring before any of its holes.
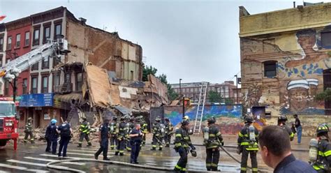
{"type": "Polygon", "coordinates": [[[193,146],[190,136],[189,136],[189,121],[186,119],[182,120],[182,126],[178,128],[175,132],[175,151],[179,153],[179,160],[175,166],[175,172],[185,172],[187,163],[187,154],[189,153],[189,148],[191,147],[191,153],[195,153],[196,147],[193,146]]]}

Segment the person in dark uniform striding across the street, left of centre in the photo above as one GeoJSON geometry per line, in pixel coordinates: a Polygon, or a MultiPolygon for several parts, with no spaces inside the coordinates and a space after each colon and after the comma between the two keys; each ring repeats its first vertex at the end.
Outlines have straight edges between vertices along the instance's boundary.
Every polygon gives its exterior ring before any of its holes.
{"type": "Polygon", "coordinates": [[[103,153],[103,160],[110,160],[107,157],[108,153],[108,141],[109,141],[109,119],[103,119],[103,124],[99,128],[99,142],[100,149],[94,153],[94,158],[98,160],[100,153],[103,153]]]}

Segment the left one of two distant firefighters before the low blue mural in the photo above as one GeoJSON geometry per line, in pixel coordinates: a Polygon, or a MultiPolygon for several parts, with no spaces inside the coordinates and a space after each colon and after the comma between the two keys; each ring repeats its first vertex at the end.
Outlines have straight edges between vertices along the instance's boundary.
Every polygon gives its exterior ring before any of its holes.
{"type": "Polygon", "coordinates": [[[153,139],[152,139],[152,151],[156,150],[157,144],[159,144],[159,151],[162,151],[162,137],[164,135],[165,129],[163,123],[161,123],[160,117],[156,117],[153,127],[153,139]]]}

